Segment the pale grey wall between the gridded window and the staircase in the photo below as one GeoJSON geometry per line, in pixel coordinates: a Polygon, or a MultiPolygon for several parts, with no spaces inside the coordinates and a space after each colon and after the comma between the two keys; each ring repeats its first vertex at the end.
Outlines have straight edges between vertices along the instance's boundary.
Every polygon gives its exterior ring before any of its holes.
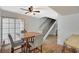
{"type": "Polygon", "coordinates": [[[41,25],[41,20],[39,18],[27,16],[25,19],[25,29],[27,31],[40,32],[39,26],[41,25]]]}

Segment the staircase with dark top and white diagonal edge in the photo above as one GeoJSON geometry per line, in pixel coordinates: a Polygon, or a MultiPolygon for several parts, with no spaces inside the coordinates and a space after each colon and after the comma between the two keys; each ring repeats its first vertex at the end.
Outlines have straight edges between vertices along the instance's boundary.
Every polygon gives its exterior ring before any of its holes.
{"type": "Polygon", "coordinates": [[[40,26],[42,28],[43,40],[45,40],[47,38],[47,36],[51,32],[51,30],[56,25],[56,20],[55,19],[48,18],[48,17],[44,17],[43,20],[44,19],[45,19],[45,21],[40,26]]]}

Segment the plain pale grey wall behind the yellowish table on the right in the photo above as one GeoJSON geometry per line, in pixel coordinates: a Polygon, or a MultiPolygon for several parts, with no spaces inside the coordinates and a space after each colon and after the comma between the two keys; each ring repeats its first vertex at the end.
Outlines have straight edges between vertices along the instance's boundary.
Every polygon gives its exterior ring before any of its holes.
{"type": "Polygon", "coordinates": [[[79,14],[58,17],[58,44],[63,45],[64,41],[72,34],[79,34],[79,14]]]}

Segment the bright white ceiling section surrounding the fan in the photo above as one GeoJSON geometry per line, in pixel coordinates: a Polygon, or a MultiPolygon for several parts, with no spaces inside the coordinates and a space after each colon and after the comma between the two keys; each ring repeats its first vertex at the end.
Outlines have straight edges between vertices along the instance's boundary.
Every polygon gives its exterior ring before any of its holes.
{"type": "Polygon", "coordinates": [[[36,13],[36,15],[32,15],[32,14],[27,15],[27,14],[25,14],[26,11],[23,11],[20,9],[20,8],[27,8],[27,6],[1,6],[1,8],[3,10],[7,10],[10,12],[16,12],[19,14],[23,14],[25,16],[32,16],[32,17],[38,17],[38,18],[51,17],[54,19],[56,19],[56,17],[57,17],[57,13],[48,6],[34,6],[35,10],[40,11],[40,13],[36,13]]]}

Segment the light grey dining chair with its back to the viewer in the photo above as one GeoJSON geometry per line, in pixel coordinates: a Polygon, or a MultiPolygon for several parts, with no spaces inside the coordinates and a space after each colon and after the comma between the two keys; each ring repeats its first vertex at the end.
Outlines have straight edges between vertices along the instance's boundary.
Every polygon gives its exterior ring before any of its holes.
{"type": "Polygon", "coordinates": [[[30,51],[29,52],[35,52],[38,50],[39,52],[42,52],[42,44],[43,44],[43,35],[38,35],[34,38],[34,42],[29,42],[30,51]]]}

